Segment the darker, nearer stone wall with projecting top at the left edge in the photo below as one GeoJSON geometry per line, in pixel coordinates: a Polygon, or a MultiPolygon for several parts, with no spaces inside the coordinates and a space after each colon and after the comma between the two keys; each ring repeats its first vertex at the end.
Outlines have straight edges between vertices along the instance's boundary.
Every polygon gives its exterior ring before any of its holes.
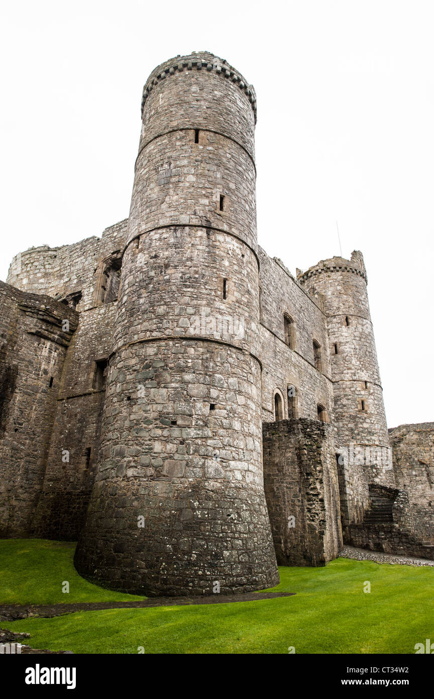
{"type": "Polygon", "coordinates": [[[0,304],[0,536],[25,536],[43,482],[59,378],[77,313],[3,282],[0,304]]]}

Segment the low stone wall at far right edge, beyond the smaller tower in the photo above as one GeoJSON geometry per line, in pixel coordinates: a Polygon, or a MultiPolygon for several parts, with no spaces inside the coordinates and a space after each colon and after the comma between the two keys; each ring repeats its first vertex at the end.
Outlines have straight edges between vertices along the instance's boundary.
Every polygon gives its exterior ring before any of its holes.
{"type": "Polygon", "coordinates": [[[434,423],[400,425],[389,437],[396,487],[407,493],[414,531],[434,545],[434,423]]]}

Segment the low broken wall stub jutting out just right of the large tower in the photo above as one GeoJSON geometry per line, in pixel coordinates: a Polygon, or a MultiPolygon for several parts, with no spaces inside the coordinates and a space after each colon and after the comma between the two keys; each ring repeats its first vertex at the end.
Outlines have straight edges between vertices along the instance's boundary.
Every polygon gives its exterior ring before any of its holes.
{"type": "Polygon", "coordinates": [[[306,418],[283,420],[264,424],[263,439],[277,562],[325,565],[342,546],[334,429],[306,418]]]}

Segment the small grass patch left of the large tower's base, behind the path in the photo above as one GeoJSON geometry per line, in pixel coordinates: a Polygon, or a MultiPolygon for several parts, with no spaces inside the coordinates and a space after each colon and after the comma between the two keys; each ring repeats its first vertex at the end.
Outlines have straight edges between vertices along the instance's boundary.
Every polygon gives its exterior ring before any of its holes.
{"type": "Polygon", "coordinates": [[[75,542],[0,539],[0,604],[44,605],[73,602],[122,602],[143,596],[104,590],[74,568],[75,542]],[[63,581],[69,593],[62,592],[63,581]]]}

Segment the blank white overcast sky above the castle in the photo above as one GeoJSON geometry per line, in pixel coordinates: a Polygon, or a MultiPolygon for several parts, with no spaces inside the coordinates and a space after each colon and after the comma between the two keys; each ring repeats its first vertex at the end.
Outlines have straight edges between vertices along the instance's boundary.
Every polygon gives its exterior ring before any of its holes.
{"type": "Polygon", "coordinates": [[[389,426],[434,419],[434,3],[1,2],[0,216],[13,255],[128,216],[140,101],[208,50],[257,92],[258,239],[294,273],[364,253],[389,426]]]}

